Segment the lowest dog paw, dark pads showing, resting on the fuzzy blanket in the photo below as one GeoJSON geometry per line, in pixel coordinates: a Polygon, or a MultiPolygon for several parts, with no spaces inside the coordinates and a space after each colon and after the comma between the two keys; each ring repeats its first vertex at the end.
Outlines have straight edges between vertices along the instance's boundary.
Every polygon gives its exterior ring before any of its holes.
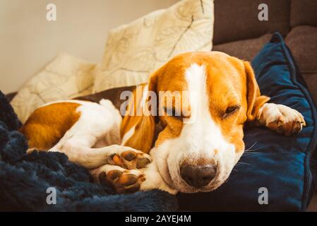
{"type": "Polygon", "coordinates": [[[140,190],[145,175],[136,169],[127,170],[113,165],[104,165],[92,171],[95,180],[102,185],[112,186],[118,194],[130,194],[140,190]]]}

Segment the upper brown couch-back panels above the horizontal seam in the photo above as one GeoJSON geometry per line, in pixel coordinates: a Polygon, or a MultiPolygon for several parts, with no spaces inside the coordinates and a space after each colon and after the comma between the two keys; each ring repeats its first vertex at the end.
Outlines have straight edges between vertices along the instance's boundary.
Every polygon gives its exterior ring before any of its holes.
{"type": "Polygon", "coordinates": [[[213,44],[275,31],[285,36],[297,25],[317,26],[317,0],[215,0],[213,44]],[[268,5],[267,21],[258,20],[259,4],[268,5]]]}

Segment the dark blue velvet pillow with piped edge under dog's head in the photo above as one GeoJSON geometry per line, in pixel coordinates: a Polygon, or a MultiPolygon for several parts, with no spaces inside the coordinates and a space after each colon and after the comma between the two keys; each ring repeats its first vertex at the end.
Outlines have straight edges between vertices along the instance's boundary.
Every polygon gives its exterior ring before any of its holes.
{"type": "Polygon", "coordinates": [[[288,137],[265,127],[246,128],[246,149],[252,151],[244,153],[216,191],[178,194],[183,210],[297,211],[305,210],[310,201],[317,165],[316,107],[279,33],[265,44],[252,66],[261,93],[271,97],[270,102],[301,112],[306,127],[288,137]],[[268,189],[268,204],[258,203],[262,187],[268,189]]]}

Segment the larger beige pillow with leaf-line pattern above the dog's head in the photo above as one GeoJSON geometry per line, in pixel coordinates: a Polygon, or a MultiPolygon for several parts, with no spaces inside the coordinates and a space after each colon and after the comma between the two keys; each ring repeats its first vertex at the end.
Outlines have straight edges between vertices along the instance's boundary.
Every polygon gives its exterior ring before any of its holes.
{"type": "Polygon", "coordinates": [[[94,92],[146,83],[175,55],[210,51],[213,22],[213,0],[182,0],[110,30],[94,92]]]}

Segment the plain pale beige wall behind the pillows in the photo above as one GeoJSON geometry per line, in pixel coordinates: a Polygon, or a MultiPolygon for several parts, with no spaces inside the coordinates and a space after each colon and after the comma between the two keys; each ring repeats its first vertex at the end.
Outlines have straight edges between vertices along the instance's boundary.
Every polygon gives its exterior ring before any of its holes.
{"type": "Polygon", "coordinates": [[[102,59],[107,31],[177,0],[0,0],[0,90],[18,90],[57,53],[102,59]],[[46,19],[49,3],[57,20],[46,19]]]}

